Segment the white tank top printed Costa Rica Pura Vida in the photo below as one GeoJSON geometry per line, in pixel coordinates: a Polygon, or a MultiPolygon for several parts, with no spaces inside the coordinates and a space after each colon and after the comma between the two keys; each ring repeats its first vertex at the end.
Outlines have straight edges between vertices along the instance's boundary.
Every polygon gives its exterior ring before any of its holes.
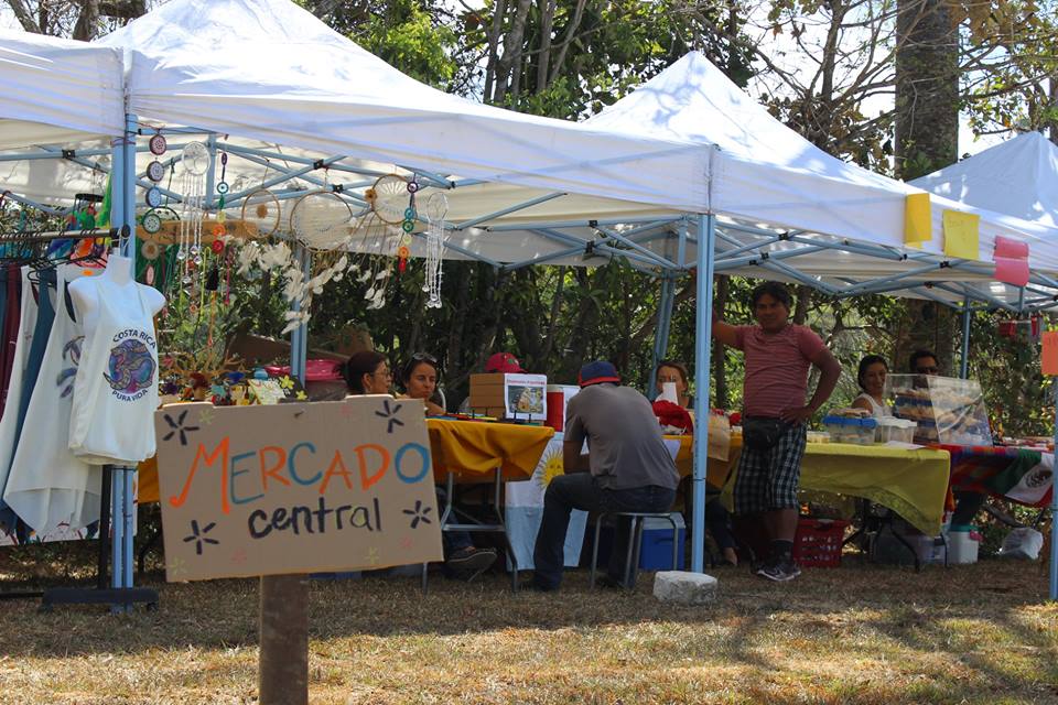
{"type": "Polygon", "coordinates": [[[94,465],[134,465],[154,455],[158,343],[143,284],[106,274],[95,286],[97,315],[85,345],[69,422],[69,449],[94,465]]]}

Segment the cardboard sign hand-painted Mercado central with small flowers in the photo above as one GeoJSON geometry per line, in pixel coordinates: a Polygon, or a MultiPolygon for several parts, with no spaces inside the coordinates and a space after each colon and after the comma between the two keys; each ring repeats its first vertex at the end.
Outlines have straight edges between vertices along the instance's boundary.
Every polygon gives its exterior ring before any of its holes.
{"type": "Polygon", "coordinates": [[[421,404],[173,404],[154,427],[170,581],[442,557],[421,404]]]}

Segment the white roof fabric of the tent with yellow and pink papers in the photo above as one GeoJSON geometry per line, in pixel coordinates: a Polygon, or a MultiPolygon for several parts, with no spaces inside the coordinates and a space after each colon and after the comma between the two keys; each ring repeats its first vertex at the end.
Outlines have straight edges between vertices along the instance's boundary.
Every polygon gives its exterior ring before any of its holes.
{"type": "MultiPolygon", "coordinates": [[[[905,197],[920,188],[843,162],[775,119],[702,54],[692,52],[587,124],[689,144],[714,144],[713,210],[809,232],[904,248],[905,197]]],[[[942,252],[943,209],[982,216],[978,259],[992,261],[996,235],[1034,239],[1016,218],[936,199],[933,241],[942,252]]],[[[1058,248],[1033,242],[1034,267],[1058,272],[1058,248]]]]}

